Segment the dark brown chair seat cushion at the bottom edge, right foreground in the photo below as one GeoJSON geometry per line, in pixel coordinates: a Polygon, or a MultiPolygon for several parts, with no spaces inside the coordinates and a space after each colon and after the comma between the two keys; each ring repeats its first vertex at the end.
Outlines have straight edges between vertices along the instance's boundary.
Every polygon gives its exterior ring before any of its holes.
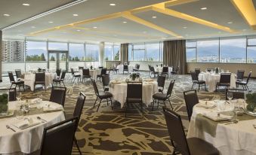
{"type": "Polygon", "coordinates": [[[218,155],[219,151],[207,141],[200,138],[187,138],[191,155],[218,155]]]}

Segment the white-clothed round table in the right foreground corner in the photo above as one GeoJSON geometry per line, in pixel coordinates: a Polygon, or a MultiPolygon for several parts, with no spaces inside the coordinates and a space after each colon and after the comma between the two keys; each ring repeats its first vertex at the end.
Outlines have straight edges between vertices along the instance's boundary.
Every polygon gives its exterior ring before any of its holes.
{"type": "MultiPolygon", "coordinates": [[[[225,111],[230,111],[230,105],[231,104],[227,104],[225,111]]],[[[225,125],[225,123],[217,123],[215,136],[212,136],[209,132],[205,132],[203,129],[199,129],[199,127],[196,126],[196,121],[199,121],[196,117],[197,114],[207,114],[217,111],[217,107],[202,108],[199,104],[195,105],[187,138],[202,138],[213,144],[223,155],[255,155],[256,129],[254,129],[252,124],[256,124],[256,117],[252,120],[239,120],[239,123],[227,125],[225,125]]]]}

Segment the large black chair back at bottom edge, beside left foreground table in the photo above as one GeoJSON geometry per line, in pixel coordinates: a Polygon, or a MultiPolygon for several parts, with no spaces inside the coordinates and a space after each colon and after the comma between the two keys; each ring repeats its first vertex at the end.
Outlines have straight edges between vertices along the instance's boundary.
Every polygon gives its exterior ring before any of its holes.
{"type": "Polygon", "coordinates": [[[72,117],[44,129],[41,155],[70,155],[78,126],[78,117],[72,117]]]}

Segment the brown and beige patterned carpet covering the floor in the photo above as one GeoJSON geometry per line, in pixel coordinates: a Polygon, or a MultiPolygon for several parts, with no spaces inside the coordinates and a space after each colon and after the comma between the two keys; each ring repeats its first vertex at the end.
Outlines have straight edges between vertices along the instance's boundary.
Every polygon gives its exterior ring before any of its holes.
{"type": "MultiPolygon", "coordinates": [[[[146,72],[142,74],[148,76],[146,72]]],[[[123,76],[127,75],[111,74],[111,79],[123,76]]],[[[175,80],[171,103],[174,111],[181,115],[187,131],[189,121],[183,92],[191,89],[192,82],[189,75],[180,75],[175,80]]],[[[165,81],[165,89],[169,82],[169,80],[165,81]]],[[[82,91],[87,96],[79,130],[76,132],[76,138],[83,154],[160,155],[172,153],[173,148],[170,145],[161,106],[154,108],[154,111],[151,111],[151,107],[144,107],[143,118],[137,108],[138,105],[128,108],[128,117],[125,117],[125,111],[120,108],[119,103],[114,104],[113,110],[110,105],[103,103],[99,112],[96,112],[97,108],[92,108],[96,96],[90,81],[78,84],[66,81],[65,84],[67,87],[65,103],[67,117],[72,114],[79,92],[82,91]]],[[[97,86],[99,90],[103,90],[99,81],[97,81],[97,86]]],[[[256,81],[250,81],[249,87],[252,90],[255,90],[255,86],[256,81]]],[[[23,93],[23,99],[32,99],[43,94],[43,98],[48,100],[50,93],[51,89],[48,89],[46,93],[44,90],[36,90],[35,93],[27,90],[23,93]]],[[[220,97],[224,99],[224,93],[199,91],[199,99],[211,100],[220,97]]],[[[170,105],[167,104],[167,106],[170,105]]],[[[76,147],[73,148],[72,154],[79,154],[76,147]]]]}

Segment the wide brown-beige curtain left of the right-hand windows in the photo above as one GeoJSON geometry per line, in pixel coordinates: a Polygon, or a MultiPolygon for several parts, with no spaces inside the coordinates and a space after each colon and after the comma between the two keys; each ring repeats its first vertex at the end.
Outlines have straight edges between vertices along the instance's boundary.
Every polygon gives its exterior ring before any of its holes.
{"type": "Polygon", "coordinates": [[[179,67],[180,74],[186,74],[186,41],[164,41],[163,61],[164,65],[179,67]]]}

